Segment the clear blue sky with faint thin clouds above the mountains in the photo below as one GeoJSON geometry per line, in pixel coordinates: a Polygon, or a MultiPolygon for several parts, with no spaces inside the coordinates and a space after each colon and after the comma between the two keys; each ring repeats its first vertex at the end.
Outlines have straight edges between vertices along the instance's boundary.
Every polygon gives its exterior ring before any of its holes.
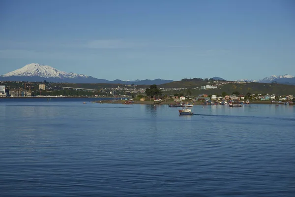
{"type": "Polygon", "coordinates": [[[295,75],[294,0],[0,0],[0,75],[108,80],[295,75]]]}

